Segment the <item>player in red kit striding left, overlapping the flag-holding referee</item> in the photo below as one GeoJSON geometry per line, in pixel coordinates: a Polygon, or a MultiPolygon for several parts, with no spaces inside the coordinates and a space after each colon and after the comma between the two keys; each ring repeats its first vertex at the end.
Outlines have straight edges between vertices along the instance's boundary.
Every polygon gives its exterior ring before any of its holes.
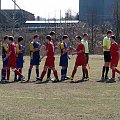
{"type": "Polygon", "coordinates": [[[71,76],[71,80],[73,80],[74,75],[77,71],[78,66],[82,66],[82,68],[85,70],[85,74],[86,74],[86,80],[89,80],[88,78],[88,70],[86,68],[86,57],[85,57],[85,47],[84,45],[81,43],[81,37],[80,36],[76,36],[75,37],[75,41],[77,44],[77,49],[74,49],[75,52],[74,54],[77,54],[76,57],[76,62],[75,62],[75,66],[74,66],[74,70],[72,72],[72,76],[71,76]]]}

